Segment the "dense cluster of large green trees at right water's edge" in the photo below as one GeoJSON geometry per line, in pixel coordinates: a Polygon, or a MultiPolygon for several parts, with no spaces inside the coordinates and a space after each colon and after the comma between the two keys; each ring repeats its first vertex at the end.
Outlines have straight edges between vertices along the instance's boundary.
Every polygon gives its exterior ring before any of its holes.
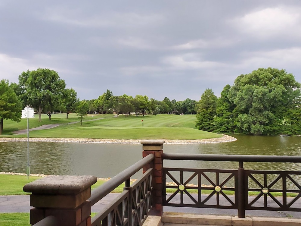
{"type": "Polygon", "coordinates": [[[284,69],[259,68],[226,85],[219,98],[206,89],[196,126],[216,133],[301,134],[300,83],[284,69]]]}

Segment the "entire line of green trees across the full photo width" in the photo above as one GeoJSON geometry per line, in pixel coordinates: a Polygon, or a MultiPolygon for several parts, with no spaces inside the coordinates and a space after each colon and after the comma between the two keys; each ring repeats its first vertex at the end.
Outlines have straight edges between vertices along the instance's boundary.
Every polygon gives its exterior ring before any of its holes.
{"type": "Polygon", "coordinates": [[[56,71],[38,68],[23,71],[19,83],[0,80],[0,135],[3,120],[20,121],[21,110],[33,107],[41,115],[59,110],[76,112],[82,118],[95,114],[196,114],[196,127],[216,133],[254,135],[301,134],[300,83],[284,69],[259,68],[238,76],[232,86],[226,85],[218,98],[206,89],[200,101],[162,101],[148,96],[115,96],[107,89],[98,99],[79,100],[74,89],[66,88],[56,71]]]}

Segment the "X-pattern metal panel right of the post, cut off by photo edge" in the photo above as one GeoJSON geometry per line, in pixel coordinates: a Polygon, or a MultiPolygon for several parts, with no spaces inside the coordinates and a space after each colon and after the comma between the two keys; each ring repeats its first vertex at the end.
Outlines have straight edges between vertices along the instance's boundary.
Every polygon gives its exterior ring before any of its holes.
{"type": "Polygon", "coordinates": [[[301,172],[245,170],[245,209],[300,211],[301,208],[292,207],[301,197],[301,185],[292,178],[292,175],[301,175],[301,172]],[[258,177],[260,177],[260,180],[258,177]],[[275,179],[268,181],[269,177],[275,179]],[[287,189],[288,182],[294,184],[296,189],[287,189]],[[252,188],[254,185],[250,185],[251,183],[255,184],[258,188],[252,188]],[[277,183],[281,184],[280,189],[273,188],[277,183]],[[249,192],[258,192],[258,195],[250,197],[249,192]],[[282,198],[277,199],[273,192],[281,193],[282,198]],[[288,200],[287,193],[295,193],[296,196],[288,200]],[[263,203],[260,202],[262,199],[263,203]]]}

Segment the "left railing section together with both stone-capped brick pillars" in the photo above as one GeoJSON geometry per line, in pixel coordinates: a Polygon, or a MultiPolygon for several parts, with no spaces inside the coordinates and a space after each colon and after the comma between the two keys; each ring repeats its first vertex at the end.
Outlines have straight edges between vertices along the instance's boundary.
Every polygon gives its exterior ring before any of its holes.
{"type": "Polygon", "coordinates": [[[154,197],[158,189],[162,193],[162,186],[158,187],[156,182],[162,174],[155,170],[158,164],[154,153],[162,149],[164,141],[156,142],[145,141],[143,147],[148,153],[143,153],[143,159],[92,191],[91,186],[97,181],[95,176],[49,176],[26,184],[23,190],[32,193],[30,224],[141,226],[151,211],[157,213],[154,197]],[[131,184],[131,177],[141,170],[143,174],[131,184]],[[123,192],[91,218],[92,206],[123,183],[123,192]]]}

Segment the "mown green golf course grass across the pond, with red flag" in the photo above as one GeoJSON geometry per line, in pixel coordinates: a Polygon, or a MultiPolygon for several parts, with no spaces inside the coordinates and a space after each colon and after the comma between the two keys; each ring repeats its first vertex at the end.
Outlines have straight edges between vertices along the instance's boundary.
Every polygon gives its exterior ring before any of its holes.
{"type": "MultiPolygon", "coordinates": [[[[57,125],[51,129],[33,130],[30,138],[93,138],[93,139],[167,139],[200,140],[221,138],[222,134],[210,133],[195,128],[195,115],[88,115],[82,125],[76,114],[53,114],[51,120],[47,115],[29,119],[29,129],[44,125],[57,125]],[[115,117],[114,117],[115,116],[115,117]]],[[[15,134],[15,131],[27,128],[26,119],[16,123],[5,120],[0,138],[27,137],[27,133],[15,134]]]]}

